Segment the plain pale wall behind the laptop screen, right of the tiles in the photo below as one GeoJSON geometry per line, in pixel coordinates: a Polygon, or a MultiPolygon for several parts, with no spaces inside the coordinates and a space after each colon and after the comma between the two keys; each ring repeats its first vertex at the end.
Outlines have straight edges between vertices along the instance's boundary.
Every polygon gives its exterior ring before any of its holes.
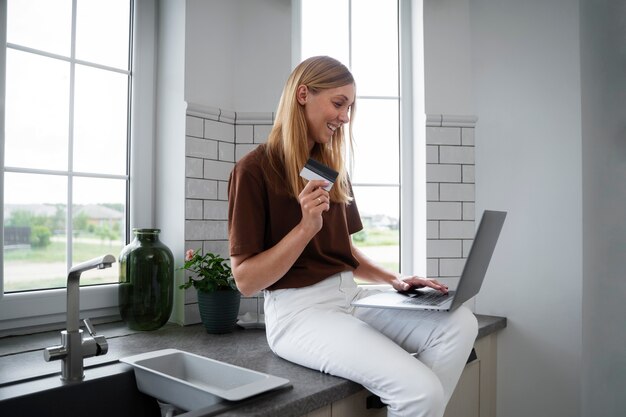
{"type": "Polygon", "coordinates": [[[580,415],[578,16],[576,0],[470,0],[476,210],[509,212],[476,300],[508,318],[499,416],[580,415]]]}

